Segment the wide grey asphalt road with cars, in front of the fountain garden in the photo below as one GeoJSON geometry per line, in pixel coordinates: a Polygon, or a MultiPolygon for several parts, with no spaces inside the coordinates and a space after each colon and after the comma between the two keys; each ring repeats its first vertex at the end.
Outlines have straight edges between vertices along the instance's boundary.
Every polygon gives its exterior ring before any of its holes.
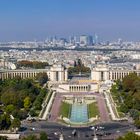
{"type": "MultiPolygon", "coordinates": [[[[38,134],[42,131],[46,132],[51,140],[58,140],[60,134],[64,136],[64,140],[92,140],[94,137],[94,132],[90,127],[66,127],[57,123],[48,123],[46,121],[36,121],[33,123],[24,122],[22,127],[26,128],[24,131],[20,131],[21,136],[38,134]],[[73,130],[76,130],[76,135],[72,134],[73,130]]],[[[96,130],[96,135],[98,139],[113,139],[126,132],[133,130],[133,125],[127,123],[111,122],[103,123],[94,126],[95,128],[102,128],[96,130]]]]}

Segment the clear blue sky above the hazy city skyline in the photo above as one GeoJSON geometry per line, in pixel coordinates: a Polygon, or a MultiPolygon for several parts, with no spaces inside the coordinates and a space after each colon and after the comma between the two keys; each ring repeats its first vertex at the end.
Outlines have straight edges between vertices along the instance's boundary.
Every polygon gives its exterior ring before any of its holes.
{"type": "Polygon", "coordinates": [[[0,41],[83,34],[140,41],[140,0],[0,0],[0,41]]]}

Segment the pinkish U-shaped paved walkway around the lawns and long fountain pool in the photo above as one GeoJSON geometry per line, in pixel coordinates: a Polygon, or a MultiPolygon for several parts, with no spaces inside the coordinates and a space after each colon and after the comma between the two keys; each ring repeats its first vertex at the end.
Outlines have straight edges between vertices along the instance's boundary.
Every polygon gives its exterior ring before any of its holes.
{"type": "Polygon", "coordinates": [[[56,93],[56,96],[54,98],[52,108],[50,111],[50,117],[48,119],[49,122],[57,122],[58,117],[59,117],[59,110],[60,110],[61,102],[63,100],[64,95],[71,95],[74,97],[80,97],[80,96],[83,97],[86,95],[93,95],[97,101],[97,106],[100,112],[99,122],[110,121],[109,112],[107,110],[107,106],[106,106],[103,94],[95,93],[95,92],[94,93],[85,92],[85,93],[56,93]]]}

